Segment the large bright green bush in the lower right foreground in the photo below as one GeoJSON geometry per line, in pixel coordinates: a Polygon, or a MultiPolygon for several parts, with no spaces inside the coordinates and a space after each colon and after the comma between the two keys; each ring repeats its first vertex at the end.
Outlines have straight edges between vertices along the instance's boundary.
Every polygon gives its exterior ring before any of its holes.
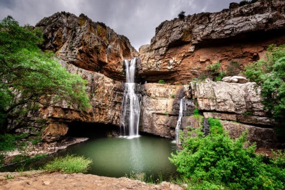
{"type": "MultiPolygon", "coordinates": [[[[209,118],[210,134],[201,129],[185,137],[183,150],[171,154],[171,162],[189,189],[283,189],[285,156],[265,159],[255,154],[255,146],[246,147],[247,133],[233,140],[223,132],[219,120],[209,118]],[[269,162],[269,163],[268,163],[269,162]]],[[[193,133],[193,132],[192,132],[193,133]]]]}

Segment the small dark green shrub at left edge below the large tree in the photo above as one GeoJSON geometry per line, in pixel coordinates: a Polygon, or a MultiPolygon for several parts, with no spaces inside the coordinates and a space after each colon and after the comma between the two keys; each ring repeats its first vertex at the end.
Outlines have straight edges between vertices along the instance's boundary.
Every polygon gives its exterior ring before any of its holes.
{"type": "Polygon", "coordinates": [[[0,135],[0,151],[14,151],[16,148],[26,146],[22,139],[26,138],[28,134],[3,134],[0,135]]]}

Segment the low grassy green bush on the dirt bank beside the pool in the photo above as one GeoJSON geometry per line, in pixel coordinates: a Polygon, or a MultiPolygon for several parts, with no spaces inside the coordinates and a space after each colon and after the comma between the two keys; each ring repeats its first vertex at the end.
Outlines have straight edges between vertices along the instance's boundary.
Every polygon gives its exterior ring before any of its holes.
{"type": "Polygon", "coordinates": [[[47,163],[43,169],[49,172],[78,173],[88,171],[91,164],[92,160],[90,158],[67,154],[65,157],[55,158],[54,161],[47,163]]]}

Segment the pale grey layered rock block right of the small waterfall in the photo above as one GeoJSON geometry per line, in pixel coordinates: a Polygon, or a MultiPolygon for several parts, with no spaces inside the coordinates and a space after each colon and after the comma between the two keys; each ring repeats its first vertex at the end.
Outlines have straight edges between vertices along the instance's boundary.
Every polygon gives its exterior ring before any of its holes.
{"type": "Polygon", "coordinates": [[[191,83],[192,95],[205,117],[227,119],[253,125],[273,125],[264,110],[261,87],[254,82],[191,83]]]}

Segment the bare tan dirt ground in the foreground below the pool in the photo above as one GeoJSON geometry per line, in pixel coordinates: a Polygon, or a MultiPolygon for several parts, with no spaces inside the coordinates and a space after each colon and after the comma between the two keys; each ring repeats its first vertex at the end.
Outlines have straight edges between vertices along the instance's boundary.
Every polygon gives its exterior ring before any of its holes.
{"type": "Polygon", "coordinates": [[[169,182],[158,185],[146,184],[126,177],[25,171],[0,173],[0,190],[183,190],[183,188],[169,182]]]}

